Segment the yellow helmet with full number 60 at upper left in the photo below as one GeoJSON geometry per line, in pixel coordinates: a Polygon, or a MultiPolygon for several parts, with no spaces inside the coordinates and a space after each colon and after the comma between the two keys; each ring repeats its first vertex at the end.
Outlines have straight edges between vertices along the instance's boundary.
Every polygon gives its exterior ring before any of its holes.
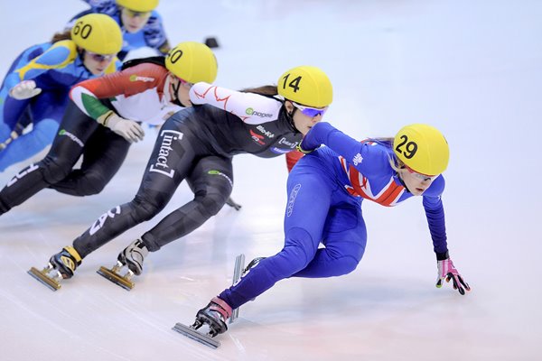
{"type": "Polygon", "coordinates": [[[118,23],[106,14],[87,14],[71,27],[71,40],[80,48],[98,54],[117,54],[122,48],[118,23]]]}

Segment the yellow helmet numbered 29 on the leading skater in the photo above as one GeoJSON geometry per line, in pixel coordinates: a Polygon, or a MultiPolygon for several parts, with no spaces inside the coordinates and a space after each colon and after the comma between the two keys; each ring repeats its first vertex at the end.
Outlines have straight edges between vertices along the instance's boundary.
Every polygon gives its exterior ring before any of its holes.
{"type": "Polygon", "coordinates": [[[413,171],[429,176],[448,167],[450,149],[444,135],[431,125],[406,125],[395,136],[393,150],[413,171]]]}

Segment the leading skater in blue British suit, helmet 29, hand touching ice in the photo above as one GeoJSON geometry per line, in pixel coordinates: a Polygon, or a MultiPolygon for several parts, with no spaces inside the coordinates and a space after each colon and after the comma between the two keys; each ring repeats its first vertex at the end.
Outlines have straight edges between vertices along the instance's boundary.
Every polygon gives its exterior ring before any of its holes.
{"type": "Polygon", "coordinates": [[[226,331],[231,310],[285,278],[333,277],[354,271],[367,241],[360,208],[363,199],[391,207],[413,196],[423,197],[436,255],[436,287],[445,280],[452,281],[462,295],[471,290],[448,254],[441,173],[449,149],[443,134],[429,125],[407,125],[395,139],[360,143],[328,123],[319,123],[304,137],[300,150],[307,155],[288,177],[284,248],[248,267],[250,272],[239,282],[198,311],[188,332],[203,324],[210,327],[208,338],[226,331]],[[316,149],[322,143],[327,147],[316,149]]]}

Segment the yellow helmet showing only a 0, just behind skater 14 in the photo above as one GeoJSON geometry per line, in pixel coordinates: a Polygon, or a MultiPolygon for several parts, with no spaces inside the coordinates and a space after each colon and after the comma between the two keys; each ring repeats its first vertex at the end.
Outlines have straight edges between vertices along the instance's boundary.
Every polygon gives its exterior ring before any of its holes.
{"type": "Polygon", "coordinates": [[[189,83],[217,79],[218,64],[210,48],[201,42],[181,42],[165,56],[165,67],[189,83]]]}

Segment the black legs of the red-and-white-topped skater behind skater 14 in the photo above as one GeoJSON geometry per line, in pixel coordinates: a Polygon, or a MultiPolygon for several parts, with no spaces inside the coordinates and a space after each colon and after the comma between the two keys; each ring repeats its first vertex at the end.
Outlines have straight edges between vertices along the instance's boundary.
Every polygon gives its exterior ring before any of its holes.
{"type": "Polygon", "coordinates": [[[0,215],[47,187],[73,196],[98,194],[117,173],[129,147],[122,136],[70,100],[49,153],[15,174],[0,191],[0,215]],[[81,155],[80,168],[73,169],[81,155]]]}

